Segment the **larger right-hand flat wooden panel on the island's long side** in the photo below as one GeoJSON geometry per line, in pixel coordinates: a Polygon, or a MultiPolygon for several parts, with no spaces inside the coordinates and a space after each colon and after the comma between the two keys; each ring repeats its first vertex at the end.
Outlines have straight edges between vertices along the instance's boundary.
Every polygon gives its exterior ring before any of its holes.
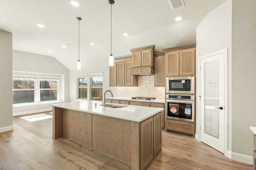
{"type": "Polygon", "coordinates": [[[92,148],[131,164],[131,121],[92,115],[92,148]]]}

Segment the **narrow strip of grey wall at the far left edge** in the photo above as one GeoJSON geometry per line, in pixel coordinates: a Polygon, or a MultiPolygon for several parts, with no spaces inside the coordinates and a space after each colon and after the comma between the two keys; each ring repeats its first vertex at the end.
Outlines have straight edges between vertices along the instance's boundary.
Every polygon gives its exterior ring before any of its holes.
{"type": "Polygon", "coordinates": [[[0,30],[0,133],[12,126],[12,33],[0,30]]]}

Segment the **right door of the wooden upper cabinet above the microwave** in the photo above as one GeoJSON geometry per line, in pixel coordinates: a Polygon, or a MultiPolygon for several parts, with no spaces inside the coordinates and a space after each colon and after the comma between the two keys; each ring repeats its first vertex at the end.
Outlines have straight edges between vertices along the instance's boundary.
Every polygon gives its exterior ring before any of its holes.
{"type": "Polygon", "coordinates": [[[195,74],[195,48],[180,51],[180,75],[195,74]]]}

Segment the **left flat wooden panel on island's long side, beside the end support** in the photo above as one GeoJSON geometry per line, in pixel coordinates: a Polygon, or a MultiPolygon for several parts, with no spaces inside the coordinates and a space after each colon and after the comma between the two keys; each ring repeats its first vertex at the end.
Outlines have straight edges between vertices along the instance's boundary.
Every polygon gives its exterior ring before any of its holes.
{"type": "Polygon", "coordinates": [[[92,113],[63,109],[63,136],[92,147],[92,113]]]}

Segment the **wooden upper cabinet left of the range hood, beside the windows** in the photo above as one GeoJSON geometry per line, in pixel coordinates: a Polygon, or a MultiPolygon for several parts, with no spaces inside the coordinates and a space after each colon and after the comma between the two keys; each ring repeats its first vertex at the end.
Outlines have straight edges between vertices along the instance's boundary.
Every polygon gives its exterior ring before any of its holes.
{"type": "Polygon", "coordinates": [[[131,58],[116,60],[109,67],[109,86],[138,86],[138,76],[131,74],[131,58]]]}

